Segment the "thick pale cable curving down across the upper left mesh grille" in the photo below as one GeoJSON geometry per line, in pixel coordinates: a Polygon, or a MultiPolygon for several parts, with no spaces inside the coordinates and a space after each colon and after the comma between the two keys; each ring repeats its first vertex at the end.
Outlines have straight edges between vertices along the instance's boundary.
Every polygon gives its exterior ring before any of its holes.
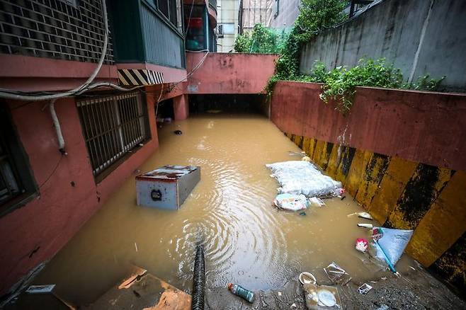
{"type": "Polygon", "coordinates": [[[70,91],[64,91],[62,93],[53,93],[50,95],[42,95],[42,96],[36,96],[36,95],[24,95],[23,93],[18,93],[17,91],[5,91],[1,90],[0,91],[0,98],[6,98],[6,99],[13,99],[13,100],[21,100],[21,101],[47,101],[47,100],[52,100],[52,99],[58,99],[58,98],[64,98],[68,96],[72,96],[76,93],[79,93],[80,91],[86,89],[88,86],[91,85],[92,81],[96,79],[96,76],[98,72],[101,70],[103,61],[105,60],[106,54],[107,54],[107,46],[108,46],[108,18],[107,18],[107,6],[106,6],[106,0],[102,0],[102,11],[103,11],[103,24],[105,26],[105,36],[103,38],[103,46],[102,46],[102,54],[100,59],[98,60],[98,64],[96,69],[94,69],[93,73],[89,78],[84,82],[79,87],[76,87],[70,91]]]}

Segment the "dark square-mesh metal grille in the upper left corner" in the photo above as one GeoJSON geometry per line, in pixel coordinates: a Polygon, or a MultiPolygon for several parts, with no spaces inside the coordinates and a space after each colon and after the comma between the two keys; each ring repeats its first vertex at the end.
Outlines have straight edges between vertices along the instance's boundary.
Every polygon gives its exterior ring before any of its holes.
{"type": "MultiPolygon", "coordinates": [[[[105,28],[101,0],[1,0],[0,52],[98,62],[105,28]]],[[[106,64],[113,64],[109,38],[106,64]]]]}

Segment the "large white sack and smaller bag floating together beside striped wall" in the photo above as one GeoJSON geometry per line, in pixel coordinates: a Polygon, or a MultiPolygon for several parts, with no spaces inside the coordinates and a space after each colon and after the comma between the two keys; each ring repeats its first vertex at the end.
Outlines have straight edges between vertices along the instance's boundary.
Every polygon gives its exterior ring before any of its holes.
{"type": "Polygon", "coordinates": [[[266,165],[271,177],[280,184],[273,205],[279,209],[301,211],[310,206],[322,207],[321,198],[336,197],[344,193],[341,183],[325,176],[307,160],[283,161],[266,165]]]}

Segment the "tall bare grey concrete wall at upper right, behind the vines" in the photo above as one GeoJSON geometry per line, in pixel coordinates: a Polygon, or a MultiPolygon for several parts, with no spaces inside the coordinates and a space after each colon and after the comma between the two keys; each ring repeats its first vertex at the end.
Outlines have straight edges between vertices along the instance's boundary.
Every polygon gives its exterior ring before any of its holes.
{"type": "Polygon", "coordinates": [[[405,79],[446,76],[446,89],[465,91],[465,16],[466,1],[385,0],[309,41],[300,69],[309,72],[316,60],[334,68],[385,57],[405,79]]]}

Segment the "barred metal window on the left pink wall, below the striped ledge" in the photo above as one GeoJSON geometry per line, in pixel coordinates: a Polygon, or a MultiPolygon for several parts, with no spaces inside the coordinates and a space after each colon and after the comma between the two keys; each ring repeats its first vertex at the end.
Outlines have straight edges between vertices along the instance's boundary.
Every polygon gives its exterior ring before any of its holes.
{"type": "Polygon", "coordinates": [[[148,138],[141,93],[77,101],[94,176],[148,138]]]}

